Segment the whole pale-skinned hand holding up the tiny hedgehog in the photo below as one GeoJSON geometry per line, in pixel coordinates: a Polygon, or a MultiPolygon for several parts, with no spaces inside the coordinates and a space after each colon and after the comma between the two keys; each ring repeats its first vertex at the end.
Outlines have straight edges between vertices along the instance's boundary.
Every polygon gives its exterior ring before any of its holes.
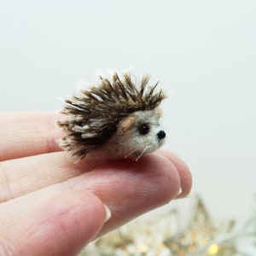
{"type": "Polygon", "coordinates": [[[189,168],[163,149],[86,172],[86,158],[75,165],[55,143],[59,118],[0,113],[0,255],[77,255],[96,237],[189,194],[189,168]]]}

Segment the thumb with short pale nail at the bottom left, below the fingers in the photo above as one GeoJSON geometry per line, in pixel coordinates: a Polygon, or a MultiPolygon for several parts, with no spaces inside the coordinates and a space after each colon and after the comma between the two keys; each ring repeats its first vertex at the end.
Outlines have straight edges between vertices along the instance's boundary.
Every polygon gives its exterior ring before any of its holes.
{"type": "Polygon", "coordinates": [[[44,202],[1,237],[0,255],[76,255],[108,218],[108,208],[96,195],[68,191],[44,202]]]}

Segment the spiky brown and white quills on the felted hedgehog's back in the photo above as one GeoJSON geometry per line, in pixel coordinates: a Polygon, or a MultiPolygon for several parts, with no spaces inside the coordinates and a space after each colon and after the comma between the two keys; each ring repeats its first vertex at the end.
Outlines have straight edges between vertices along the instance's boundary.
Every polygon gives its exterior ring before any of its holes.
{"type": "Polygon", "coordinates": [[[80,90],[65,100],[61,113],[67,119],[58,122],[66,136],[61,148],[73,156],[84,158],[86,154],[113,137],[122,119],[137,111],[153,110],[166,98],[158,83],[148,85],[150,76],[144,74],[141,81],[133,80],[131,73],[113,73],[112,78],[100,76],[100,83],[80,90]]]}

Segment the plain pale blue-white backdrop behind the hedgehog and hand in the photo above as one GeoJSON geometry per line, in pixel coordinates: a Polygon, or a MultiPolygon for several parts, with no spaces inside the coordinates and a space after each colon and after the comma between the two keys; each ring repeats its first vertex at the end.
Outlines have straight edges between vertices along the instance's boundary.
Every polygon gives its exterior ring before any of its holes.
{"type": "Polygon", "coordinates": [[[0,109],[57,110],[98,70],[149,71],[174,91],[166,148],[193,193],[212,218],[243,222],[256,191],[255,14],[253,0],[2,1],[0,109]]]}

